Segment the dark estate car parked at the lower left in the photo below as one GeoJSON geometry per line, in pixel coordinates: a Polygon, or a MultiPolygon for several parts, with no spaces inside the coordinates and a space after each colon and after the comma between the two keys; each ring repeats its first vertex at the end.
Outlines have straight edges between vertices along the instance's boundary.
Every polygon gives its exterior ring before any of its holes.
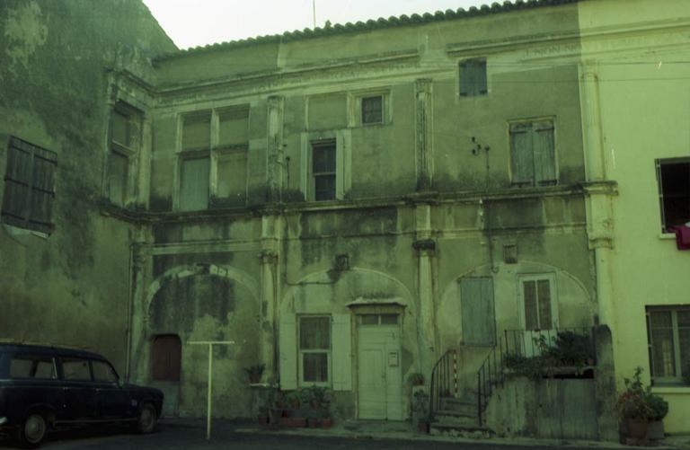
{"type": "Polygon", "coordinates": [[[49,428],[129,422],[154,430],[158,389],[123,384],[104,357],[75,349],[0,343],[0,431],[39,446],[49,428]]]}

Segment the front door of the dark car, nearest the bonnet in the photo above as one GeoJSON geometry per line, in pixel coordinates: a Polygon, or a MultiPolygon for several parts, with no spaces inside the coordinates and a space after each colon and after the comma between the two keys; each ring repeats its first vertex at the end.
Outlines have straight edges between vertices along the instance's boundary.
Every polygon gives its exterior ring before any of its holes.
{"type": "Polygon", "coordinates": [[[119,377],[105,360],[92,359],[93,383],[98,397],[98,418],[118,420],[131,417],[128,389],[119,384],[119,377]]]}

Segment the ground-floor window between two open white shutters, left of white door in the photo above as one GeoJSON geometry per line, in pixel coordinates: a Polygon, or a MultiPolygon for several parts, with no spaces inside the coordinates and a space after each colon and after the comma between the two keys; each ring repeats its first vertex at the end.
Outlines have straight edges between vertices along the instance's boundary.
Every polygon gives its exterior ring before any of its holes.
{"type": "Polygon", "coordinates": [[[328,384],[331,366],[331,317],[299,318],[299,372],[303,384],[328,384]]]}

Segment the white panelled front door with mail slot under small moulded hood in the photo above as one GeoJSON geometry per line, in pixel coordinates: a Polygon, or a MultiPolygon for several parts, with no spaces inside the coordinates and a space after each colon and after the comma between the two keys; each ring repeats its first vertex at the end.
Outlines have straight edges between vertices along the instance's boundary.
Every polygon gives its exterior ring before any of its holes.
{"type": "Polygon", "coordinates": [[[359,419],[403,419],[403,375],[397,318],[396,314],[358,316],[359,419]]]}

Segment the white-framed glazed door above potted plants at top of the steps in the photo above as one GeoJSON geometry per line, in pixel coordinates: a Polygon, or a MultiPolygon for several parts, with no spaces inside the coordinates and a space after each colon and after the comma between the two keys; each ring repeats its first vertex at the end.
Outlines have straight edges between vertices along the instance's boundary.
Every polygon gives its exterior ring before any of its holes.
{"type": "Polygon", "coordinates": [[[558,302],[553,274],[518,277],[518,296],[525,330],[558,327],[558,302]]]}

